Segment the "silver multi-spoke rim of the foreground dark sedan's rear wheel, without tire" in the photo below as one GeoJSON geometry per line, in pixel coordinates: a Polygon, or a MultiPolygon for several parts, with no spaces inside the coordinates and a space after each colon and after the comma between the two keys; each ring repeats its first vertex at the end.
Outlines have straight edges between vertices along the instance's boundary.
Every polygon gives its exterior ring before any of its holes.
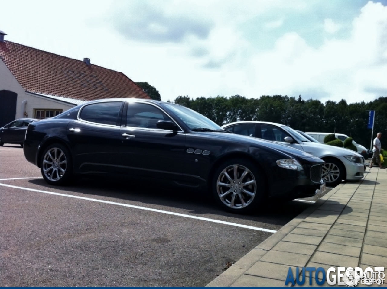
{"type": "Polygon", "coordinates": [[[43,157],[43,173],[53,182],[60,180],[66,172],[67,160],[60,148],[50,148],[43,157]]]}

